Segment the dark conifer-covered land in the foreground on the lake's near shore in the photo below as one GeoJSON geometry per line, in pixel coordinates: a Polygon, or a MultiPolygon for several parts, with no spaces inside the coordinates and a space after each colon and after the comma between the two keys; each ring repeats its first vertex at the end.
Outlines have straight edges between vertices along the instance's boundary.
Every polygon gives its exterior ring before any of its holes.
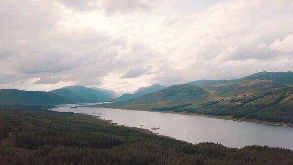
{"type": "Polygon", "coordinates": [[[91,116],[46,110],[1,109],[2,139],[0,164],[293,163],[289,150],[191,145],[91,116]],[[12,133],[7,138],[8,132],[12,133]]]}

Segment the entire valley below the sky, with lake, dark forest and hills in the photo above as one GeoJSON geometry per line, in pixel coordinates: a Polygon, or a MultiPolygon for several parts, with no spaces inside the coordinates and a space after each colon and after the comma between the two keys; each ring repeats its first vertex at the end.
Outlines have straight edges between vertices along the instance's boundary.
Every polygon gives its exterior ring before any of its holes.
{"type": "Polygon", "coordinates": [[[0,162],[290,163],[291,74],[154,85],[122,101],[82,86],[0,90],[0,162]]]}

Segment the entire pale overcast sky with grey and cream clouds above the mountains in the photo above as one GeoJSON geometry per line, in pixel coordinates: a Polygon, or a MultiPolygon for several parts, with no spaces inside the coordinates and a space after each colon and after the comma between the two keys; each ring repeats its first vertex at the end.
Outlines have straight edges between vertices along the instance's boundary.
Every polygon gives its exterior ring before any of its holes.
{"type": "Polygon", "coordinates": [[[0,89],[293,71],[292,0],[1,0],[0,89]]]}

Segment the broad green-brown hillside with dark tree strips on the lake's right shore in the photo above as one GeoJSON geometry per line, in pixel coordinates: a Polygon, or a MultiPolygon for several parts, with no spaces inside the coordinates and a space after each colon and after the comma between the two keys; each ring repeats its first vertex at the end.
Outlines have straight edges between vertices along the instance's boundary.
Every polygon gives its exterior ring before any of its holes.
{"type": "Polygon", "coordinates": [[[269,80],[248,80],[217,86],[171,86],[132,100],[93,107],[153,109],[293,123],[292,97],[292,87],[269,80]],[[191,105],[177,107],[186,104],[191,105]]]}

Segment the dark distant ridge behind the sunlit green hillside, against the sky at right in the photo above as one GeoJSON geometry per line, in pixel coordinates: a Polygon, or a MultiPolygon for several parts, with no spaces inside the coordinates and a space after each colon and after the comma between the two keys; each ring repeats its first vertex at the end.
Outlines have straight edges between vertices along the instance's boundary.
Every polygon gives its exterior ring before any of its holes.
{"type": "Polygon", "coordinates": [[[195,85],[195,86],[215,86],[221,84],[229,84],[240,82],[244,80],[271,80],[275,82],[279,82],[281,84],[286,85],[293,85],[293,72],[259,72],[254,73],[249,76],[240,78],[240,79],[230,79],[230,80],[196,80],[189,82],[188,84],[195,85]]]}

